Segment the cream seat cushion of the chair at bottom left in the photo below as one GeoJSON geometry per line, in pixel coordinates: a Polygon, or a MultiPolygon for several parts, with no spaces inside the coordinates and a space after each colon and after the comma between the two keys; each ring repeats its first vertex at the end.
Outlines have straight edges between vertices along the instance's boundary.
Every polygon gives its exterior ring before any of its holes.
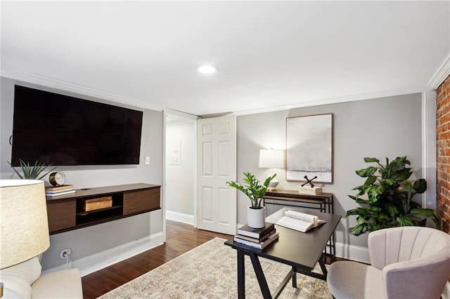
{"type": "Polygon", "coordinates": [[[31,285],[36,298],[83,298],[82,279],[78,269],[60,270],[41,275],[31,285]]]}

